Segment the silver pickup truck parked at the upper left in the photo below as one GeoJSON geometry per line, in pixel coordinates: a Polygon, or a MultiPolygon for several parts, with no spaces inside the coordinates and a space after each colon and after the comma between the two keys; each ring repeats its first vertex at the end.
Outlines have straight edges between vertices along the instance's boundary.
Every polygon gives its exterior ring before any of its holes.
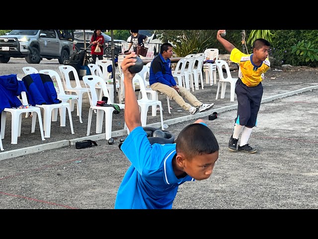
{"type": "Polygon", "coordinates": [[[74,53],[73,41],[73,30],[12,30],[0,36],[0,63],[17,57],[30,64],[43,58],[64,64],[74,53]]]}

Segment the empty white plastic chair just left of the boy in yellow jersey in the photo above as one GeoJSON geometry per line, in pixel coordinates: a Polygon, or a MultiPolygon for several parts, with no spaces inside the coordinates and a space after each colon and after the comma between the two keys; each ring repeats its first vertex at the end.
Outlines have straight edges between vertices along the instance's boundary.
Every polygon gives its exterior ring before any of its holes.
{"type": "Polygon", "coordinates": [[[220,85],[222,84],[222,89],[221,89],[221,99],[224,99],[225,97],[225,91],[227,88],[227,83],[230,83],[231,85],[231,92],[230,92],[230,96],[231,96],[231,102],[234,102],[234,96],[235,96],[235,84],[237,82],[237,80],[239,78],[233,78],[231,75],[231,71],[230,71],[230,67],[228,65],[228,63],[224,60],[216,60],[216,65],[218,67],[218,72],[219,72],[219,84],[218,84],[218,90],[217,90],[217,96],[216,96],[216,100],[219,97],[219,91],[220,91],[220,85]],[[227,78],[224,77],[224,73],[223,73],[223,67],[226,69],[226,73],[227,73],[227,78]]]}

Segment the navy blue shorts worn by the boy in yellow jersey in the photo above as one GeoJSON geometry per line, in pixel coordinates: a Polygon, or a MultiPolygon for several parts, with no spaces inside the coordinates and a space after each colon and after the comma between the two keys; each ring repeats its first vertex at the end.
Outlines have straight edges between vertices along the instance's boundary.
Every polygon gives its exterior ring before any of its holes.
{"type": "Polygon", "coordinates": [[[254,127],[257,124],[257,114],[263,96],[263,86],[248,87],[238,79],[235,87],[238,100],[238,115],[235,122],[247,127],[254,127]]]}

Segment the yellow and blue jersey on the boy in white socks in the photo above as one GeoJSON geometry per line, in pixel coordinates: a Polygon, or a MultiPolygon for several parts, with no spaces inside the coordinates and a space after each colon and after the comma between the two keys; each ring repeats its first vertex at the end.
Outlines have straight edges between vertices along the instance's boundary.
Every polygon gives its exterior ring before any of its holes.
{"type": "Polygon", "coordinates": [[[253,54],[244,54],[238,48],[231,51],[230,60],[239,63],[239,78],[248,87],[257,86],[263,79],[264,73],[270,68],[268,58],[260,65],[252,61],[253,54]]]}

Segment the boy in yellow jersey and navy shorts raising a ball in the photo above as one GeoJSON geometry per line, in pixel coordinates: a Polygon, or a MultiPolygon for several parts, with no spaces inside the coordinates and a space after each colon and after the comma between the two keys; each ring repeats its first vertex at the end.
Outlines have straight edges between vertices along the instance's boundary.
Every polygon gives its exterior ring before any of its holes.
{"type": "Polygon", "coordinates": [[[257,124],[257,114],[263,96],[261,81],[264,73],[269,69],[268,51],[270,43],[262,38],[253,43],[253,53],[244,54],[232,43],[224,39],[221,34],[225,30],[218,30],[217,39],[230,52],[230,60],[239,63],[239,79],[235,93],[238,99],[238,113],[235,119],[234,132],[229,141],[231,151],[256,153],[248,143],[252,128],[257,124]],[[242,132],[238,145],[239,134],[242,132]]]}

